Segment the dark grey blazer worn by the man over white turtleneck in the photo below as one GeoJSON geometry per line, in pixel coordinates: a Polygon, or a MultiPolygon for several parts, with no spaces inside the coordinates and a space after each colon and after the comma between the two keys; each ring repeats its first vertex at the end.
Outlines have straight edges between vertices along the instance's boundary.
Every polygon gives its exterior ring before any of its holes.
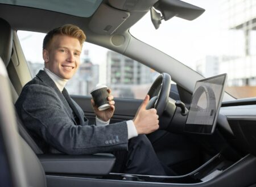
{"type": "Polygon", "coordinates": [[[88,125],[79,105],[70,97],[65,99],[43,70],[23,87],[15,107],[43,152],[52,148],[74,155],[127,150],[126,122],[88,125]]]}

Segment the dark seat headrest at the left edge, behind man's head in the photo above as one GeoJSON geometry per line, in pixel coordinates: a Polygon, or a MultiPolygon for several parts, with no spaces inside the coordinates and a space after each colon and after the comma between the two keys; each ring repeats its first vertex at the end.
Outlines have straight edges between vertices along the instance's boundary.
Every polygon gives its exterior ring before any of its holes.
{"type": "Polygon", "coordinates": [[[10,24],[2,18],[0,18],[0,28],[0,57],[7,66],[13,48],[13,33],[10,24]]]}

